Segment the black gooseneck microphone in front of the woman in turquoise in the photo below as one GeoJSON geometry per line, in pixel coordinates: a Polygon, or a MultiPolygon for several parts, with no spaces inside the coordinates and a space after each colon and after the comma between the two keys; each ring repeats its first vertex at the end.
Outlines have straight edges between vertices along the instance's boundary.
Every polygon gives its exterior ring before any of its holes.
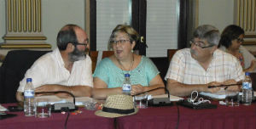
{"type": "MultiPolygon", "coordinates": [[[[170,101],[170,93],[169,93],[169,91],[166,89],[166,87],[157,87],[157,88],[154,88],[154,89],[145,91],[145,92],[143,92],[143,93],[148,93],[148,92],[151,92],[151,91],[160,89],[160,88],[164,88],[164,89],[165,89],[166,93],[168,94],[168,98],[161,97],[161,98],[153,98],[153,99],[150,99],[150,100],[148,101],[148,105],[149,105],[149,106],[170,106],[170,105],[172,105],[172,103],[171,103],[171,101],[170,101]]],[[[134,96],[137,96],[137,95],[140,95],[140,94],[143,94],[143,93],[137,93],[137,94],[132,95],[132,96],[134,97],[134,96]]]]}

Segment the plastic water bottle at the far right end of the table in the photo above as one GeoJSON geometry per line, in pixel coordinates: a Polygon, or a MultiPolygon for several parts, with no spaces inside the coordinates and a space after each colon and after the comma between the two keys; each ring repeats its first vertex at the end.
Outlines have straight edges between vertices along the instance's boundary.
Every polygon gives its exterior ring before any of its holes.
{"type": "Polygon", "coordinates": [[[250,73],[246,72],[244,81],[242,81],[242,96],[241,102],[245,105],[250,105],[252,103],[253,97],[253,87],[250,73]]]}

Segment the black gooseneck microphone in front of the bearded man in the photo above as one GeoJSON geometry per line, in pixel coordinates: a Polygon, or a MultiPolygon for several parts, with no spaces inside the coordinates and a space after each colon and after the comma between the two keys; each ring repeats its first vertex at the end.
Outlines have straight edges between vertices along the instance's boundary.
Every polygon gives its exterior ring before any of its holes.
{"type": "Polygon", "coordinates": [[[73,93],[69,93],[67,91],[55,91],[55,92],[40,92],[40,93],[67,93],[73,97],[73,103],[67,102],[67,103],[56,103],[51,105],[51,111],[52,112],[61,112],[61,111],[74,111],[79,109],[76,104],[76,99],[73,93]]]}

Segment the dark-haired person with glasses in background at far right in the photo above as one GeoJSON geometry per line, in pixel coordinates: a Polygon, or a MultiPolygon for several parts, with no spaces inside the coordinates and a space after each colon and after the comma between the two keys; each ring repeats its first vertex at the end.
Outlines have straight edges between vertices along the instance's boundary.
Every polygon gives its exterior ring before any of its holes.
{"type": "Polygon", "coordinates": [[[244,31],[240,26],[229,25],[222,32],[218,47],[235,56],[245,72],[256,71],[255,57],[241,45],[243,37],[244,31]]]}

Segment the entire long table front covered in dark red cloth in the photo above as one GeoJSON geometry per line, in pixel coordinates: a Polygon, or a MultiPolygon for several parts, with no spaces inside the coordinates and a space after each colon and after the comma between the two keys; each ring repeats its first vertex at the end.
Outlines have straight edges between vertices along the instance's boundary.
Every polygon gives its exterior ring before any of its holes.
{"type": "MultiPolygon", "coordinates": [[[[214,101],[213,104],[218,104],[214,101]]],[[[9,106],[12,104],[3,104],[9,106]]],[[[250,106],[226,107],[219,105],[217,109],[188,109],[173,105],[169,107],[148,107],[139,109],[137,115],[119,117],[116,120],[94,115],[95,111],[86,109],[82,114],[70,115],[67,129],[101,128],[101,129],[255,129],[256,104],[250,106]],[[177,109],[178,108],[178,109],[177,109]],[[179,118],[177,117],[179,112],[179,118]]],[[[26,117],[23,112],[18,116],[1,120],[0,128],[64,128],[66,115],[53,113],[49,118],[26,117]]]]}

